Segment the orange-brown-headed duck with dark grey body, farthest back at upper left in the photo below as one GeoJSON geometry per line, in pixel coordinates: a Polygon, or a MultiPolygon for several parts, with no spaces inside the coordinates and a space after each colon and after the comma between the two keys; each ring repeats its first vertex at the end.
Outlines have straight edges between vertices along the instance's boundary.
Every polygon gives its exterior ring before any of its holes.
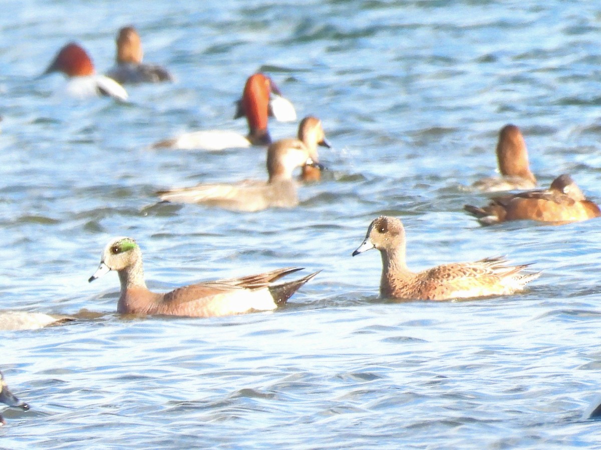
{"type": "Polygon", "coordinates": [[[106,76],[117,83],[160,83],[174,79],[168,70],[160,65],[143,64],[142,41],[132,25],[124,26],[117,35],[117,56],[115,66],[106,76]]]}

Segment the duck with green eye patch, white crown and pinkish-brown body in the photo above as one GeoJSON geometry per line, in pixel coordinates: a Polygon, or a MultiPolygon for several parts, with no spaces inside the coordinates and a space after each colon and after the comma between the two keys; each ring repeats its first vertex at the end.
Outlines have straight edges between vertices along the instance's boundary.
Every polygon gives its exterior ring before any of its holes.
{"type": "Polygon", "coordinates": [[[117,303],[120,314],[162,314],[166,316],[217,317],[251,311],[271,311],[285,304],[319,272],[293,281],[273,284],[303,268],[287,267],[242,278],[204,281],[179,287],[166,293],[148,290],[144,281],[142,252],[132,238],[112,238],[100,257],[100,266],[88,281],[109,271],[117,271],[121,293],[117,303]]]}

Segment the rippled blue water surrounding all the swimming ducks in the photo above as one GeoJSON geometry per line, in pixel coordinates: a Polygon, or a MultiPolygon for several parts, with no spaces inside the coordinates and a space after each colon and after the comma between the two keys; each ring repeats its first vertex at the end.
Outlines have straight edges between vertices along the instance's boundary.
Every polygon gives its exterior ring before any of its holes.
{"type": "MultiPolygon", "coordinates": [[[[597,180],[601,7],[594,2],[5,2],[0,16],[0,291],[7,310],[81,313],[2,332],[6,448],[597,446],[599,222],[481,228],[462,185],[525,134],[541,185],[597,180]],[[124,10],[124,7],[128,8],[124,10]],[[103,71],[120,26],[174,85],[130,103],[52,95],[36,79],[77,40],[103,71]],[[162,188],[264,178],[260,149],[150,151],[228,128],[246,77],[269,73],[323,120],[325,181],[292,210],[157,205],[162,188]],[[506,254],[543,271],[523,293],[383,302],[380,258],[351,258],[379,214],[403,218],[414,269],[506,254]],[[273,313],[126,319],[116,275],[87,279],[115,235],[151,289],[302,265],[322,272],[273,313]]],[[[272,136],[296,124],[270,124],[272,136]]],[[[306,271],[307,272],[307,271],[306,271]]],[[[308,272],[307,272],[308,273],[308,272]]]]}

